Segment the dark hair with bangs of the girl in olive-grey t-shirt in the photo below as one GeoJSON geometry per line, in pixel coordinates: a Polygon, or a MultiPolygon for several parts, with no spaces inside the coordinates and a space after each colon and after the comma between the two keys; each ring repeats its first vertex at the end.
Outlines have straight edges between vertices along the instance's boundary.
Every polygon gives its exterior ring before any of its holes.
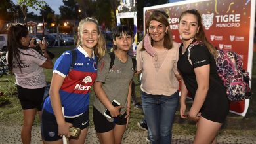
{"type": "MultiPolygon", "coordinates": [[[[133,31],[125,25],[116,26],[113,29],[112,37],[116,39],[116,37],[123,36],[123,35],[131,35],[133,37],[133,31]]],[[[117,46],[113,45],[113,50],[117,50],[117,46]]]]}

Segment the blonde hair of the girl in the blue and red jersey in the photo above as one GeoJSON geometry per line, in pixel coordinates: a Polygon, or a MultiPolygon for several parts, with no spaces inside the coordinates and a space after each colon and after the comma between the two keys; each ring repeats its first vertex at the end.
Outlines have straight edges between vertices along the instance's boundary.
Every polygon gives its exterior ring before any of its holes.
{"type": "Polygon", "coordinates": [[[94,17],[87,17],[84,18],[83,20],[81,20],[79,22],[79,26],[78,26],[78,37],[77,37],[77,45],[81,45],[82,41],[81,41],[81,31],[83,28],[83,25],[85,24],[85,22],[93,22],[96,24],[97,26],[97,31],[98,31],[98,43],[95,46],[95,54],[96,56],[98,56],[99,59],[101,59],[105,54],[106,54],[106,41],[104,36],[102,35],[101,31],[100,31],[100,27],[98,25],[98,20],[96,20],[96,18],[94,17]]]}

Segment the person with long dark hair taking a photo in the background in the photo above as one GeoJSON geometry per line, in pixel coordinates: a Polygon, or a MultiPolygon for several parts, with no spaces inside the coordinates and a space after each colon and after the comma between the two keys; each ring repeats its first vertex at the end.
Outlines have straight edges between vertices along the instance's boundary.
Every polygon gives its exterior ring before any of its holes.
{"type": "Polygon", "coordinates": [[[9,70],[15,75],[18,99],[22,106],[22,143],[31,143],[32,125],[37,112],[41,119],[41,103],[47,85],[43,68],[53,68],[53,62],[46,51],[45,39],[44,43],[39,43],[43,55],[34,49],[34,41],[28,33],[28,27],[20,24],[9,27],[7,63],[9,70]]]}

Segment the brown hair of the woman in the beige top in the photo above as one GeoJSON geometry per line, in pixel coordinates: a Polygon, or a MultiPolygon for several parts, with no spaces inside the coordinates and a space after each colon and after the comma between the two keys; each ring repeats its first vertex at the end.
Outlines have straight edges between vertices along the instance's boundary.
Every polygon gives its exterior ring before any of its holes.
{"type": "MultiPolygon", "coordinates": [[[[165,33],[165,36],[163,38],[163,46],[169,50],[173,48],[173,36],[171,34],[171,29],[169,27],[168,17],[169,17],[168,14],[166,14],[163,11],[160,11],[160,10],[153,11],[150,17],[148,18],[148,20],[146,20],[146,34],[149,34],[148,33],[149,26],[152,20],[156,20],[164,24],[166,27],[168,27],[168,31],[167,33],[165,33]]],[[[143,40],[143,43],[144,43],[144,40],[143,40]]],[[[151,41],[152,46],[153,46],[153,43],[154,41],[151,41]]],[[[142,46],[142,50],[145,50],[144,46],[142,46]]]]}

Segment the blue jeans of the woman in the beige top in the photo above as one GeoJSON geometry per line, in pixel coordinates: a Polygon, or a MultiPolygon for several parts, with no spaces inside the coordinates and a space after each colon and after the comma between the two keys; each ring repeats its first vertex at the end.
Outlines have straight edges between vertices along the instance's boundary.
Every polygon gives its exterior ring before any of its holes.
{"type": "Polygon", "coordinates": [[[171,96],[141,92],[141,99],[151,143],[170,144],[171,129],[179,103],[179,92],[171,96]]]}

